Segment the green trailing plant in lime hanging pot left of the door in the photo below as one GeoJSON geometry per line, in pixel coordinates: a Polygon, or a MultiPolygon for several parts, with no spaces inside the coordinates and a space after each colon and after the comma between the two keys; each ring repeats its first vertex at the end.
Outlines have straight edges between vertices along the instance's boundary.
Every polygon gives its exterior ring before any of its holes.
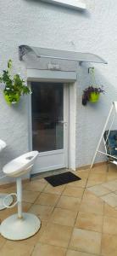
{"type": "Polygon", "coordinates": [[[9,104],[20,101],[20,96],[31,94],[31,90],[25,85],[25,80],[18,73],[11,75],[12,61],[8,61],[8,68],[0,75],[0,83],[4,85],[3,95],[9,104]]]}

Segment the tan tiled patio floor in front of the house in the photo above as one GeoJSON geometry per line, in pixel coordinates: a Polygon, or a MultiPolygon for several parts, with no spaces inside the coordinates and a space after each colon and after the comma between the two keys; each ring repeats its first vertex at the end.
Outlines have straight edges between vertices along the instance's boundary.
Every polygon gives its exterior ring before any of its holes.
{"type": "MultiPolygon", "coordinates": [[[[7,241],[0,236],[0,256],[117,256],[117,210],[87,188],[117,179],[114,165],[75,172],[81,181],[53,188],[44,179],[23,185],[25,212],[42,220],[36,236],[7,241]]],[[[1,189],[14,192],[15,187],[1,189]]],[[[0,212],[1,221],[16,207],[0,212]]]]}

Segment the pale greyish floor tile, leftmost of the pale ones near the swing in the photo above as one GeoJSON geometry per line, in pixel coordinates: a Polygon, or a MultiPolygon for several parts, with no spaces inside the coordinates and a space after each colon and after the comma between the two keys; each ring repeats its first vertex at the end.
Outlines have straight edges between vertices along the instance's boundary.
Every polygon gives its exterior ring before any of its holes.
{"type": "Polygon", "coordinates": [[[94,193],[97,196],[106,195],[110,193],[109,189],[106,189],[103,187],[103,185],[96,185],[93,187],[88,188],[92,193],[94,193]]]}

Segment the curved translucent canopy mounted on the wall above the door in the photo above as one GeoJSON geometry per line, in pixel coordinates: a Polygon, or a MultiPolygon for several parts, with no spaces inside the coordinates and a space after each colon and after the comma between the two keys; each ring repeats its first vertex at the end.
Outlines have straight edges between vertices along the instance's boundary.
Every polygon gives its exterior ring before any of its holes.
{"type": "Polygon", "coordinates": [[[23,59],[24,55],[27,55],[29,52],[32,52],[36,55],[37,58],[52,58],[58,60],[68,60],[68,61],[79,61],[79,62],[95,62],[108,64],[102,57],[92,54],[92,53],[81,53],[68,50],[60,49],[47,49],[29,45],[20,45],[20,61],[23,59]]]}

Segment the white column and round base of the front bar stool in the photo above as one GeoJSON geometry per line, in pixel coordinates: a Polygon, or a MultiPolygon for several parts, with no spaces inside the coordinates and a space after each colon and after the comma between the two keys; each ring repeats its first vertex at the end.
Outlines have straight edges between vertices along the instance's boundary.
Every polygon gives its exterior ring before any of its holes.
{"type": "Polygon", "coordinates": [[[16,178],[18,213],[4,219],[0,231],[1,235],[9,240],[23,240],[34,236],[41,227],[41,221],[36,215],[22,212],[22,183],[16,178]]]}

